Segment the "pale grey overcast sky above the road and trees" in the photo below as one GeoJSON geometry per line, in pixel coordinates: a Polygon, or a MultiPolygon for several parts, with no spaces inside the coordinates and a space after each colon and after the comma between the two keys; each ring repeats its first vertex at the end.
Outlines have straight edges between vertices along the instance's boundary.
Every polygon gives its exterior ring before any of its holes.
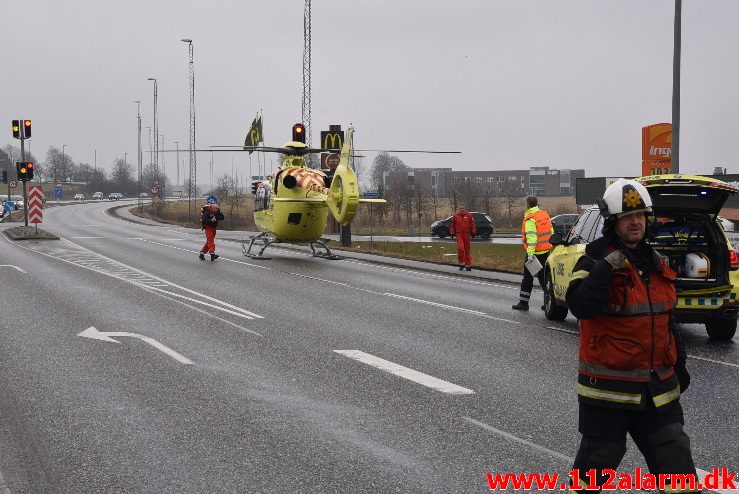
{"type": "MultiPolygon", "coordinates": [[[[242,144],[260,110],[266,144],[282,145],[301,118],[303,10],[303,0],[4,2],[0,145],[18,144],[10,120],[31,118],[39,159],[66,144],[76,162],[92,164],[94,150],[98,166],[124,153],[134,162],[133,101],[148,150],[156,77],[165,148],[187,148],[181,38],[195,47],[198,147],[242,144]]],[[[674,0],[314,0],[312,12],[316,145],[329,124],[351,123],[358,148],[462,151],[402,155],[410,166],[638,175],[641,127],[671,120],[674,0]]],[[[737,24],[739,1],[683,0],[683,172],[739,172],[737,24]]],[[[246,153],[216,153],[216,175],[232,159],[248,171],[246,153]]],[[[199,183],[209,162],[198,155],[199,183]]],[[[171,180],[174,163],[165,157],[171,180]]]]}

